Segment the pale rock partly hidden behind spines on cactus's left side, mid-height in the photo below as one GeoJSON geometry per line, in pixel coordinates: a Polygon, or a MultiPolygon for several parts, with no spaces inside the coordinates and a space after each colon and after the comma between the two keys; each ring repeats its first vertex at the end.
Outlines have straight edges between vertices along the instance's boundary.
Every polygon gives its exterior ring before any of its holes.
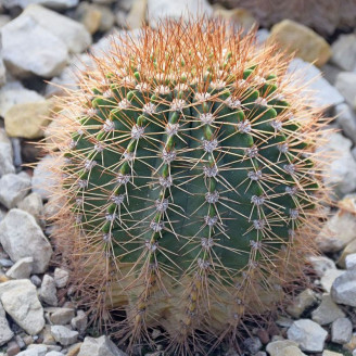
{"type": "Polygon", "coordinates": [[[33,192],[39,194],[43,200],[51,196],[51,187],[55,185],[56,177],[50,170],[51,156],[44,156],[34,169],[33,176],[33,192]]]}

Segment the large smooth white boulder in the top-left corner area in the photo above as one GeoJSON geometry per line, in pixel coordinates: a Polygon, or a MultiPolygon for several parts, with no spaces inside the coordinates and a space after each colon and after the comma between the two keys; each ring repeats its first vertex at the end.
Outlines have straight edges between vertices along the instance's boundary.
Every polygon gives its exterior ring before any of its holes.
{"type": "Polygon", "coordinates": [[[20,15],[1,28],[3,60],[15,76],[50,78],[67,62],[67,48],[31,16],[20,15]],[[26,55],[24,55],[26,53],[26,55]]]}

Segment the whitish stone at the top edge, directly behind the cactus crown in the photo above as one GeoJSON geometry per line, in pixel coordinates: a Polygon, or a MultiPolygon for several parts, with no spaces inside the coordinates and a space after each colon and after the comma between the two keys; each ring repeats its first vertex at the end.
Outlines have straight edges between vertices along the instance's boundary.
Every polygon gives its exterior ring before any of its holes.
{"type": "Polygon", "coordinates": [[[198,18],[200,15],[211,16],[213,8],[207,0],[148,0],[148,18],[153,28],[156,28],[161,18],[198,18]]]}

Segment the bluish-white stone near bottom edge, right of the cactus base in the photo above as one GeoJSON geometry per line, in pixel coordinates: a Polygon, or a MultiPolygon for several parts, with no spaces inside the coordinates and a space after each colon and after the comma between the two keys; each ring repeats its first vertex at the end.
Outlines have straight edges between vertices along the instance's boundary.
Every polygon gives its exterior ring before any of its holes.
{"type": "Polygon", "coordinates": [[[296,342],[302,351],[321,353],[328,332],[309,319],[293,322],[288,329],[288,339],[296,342]]]}

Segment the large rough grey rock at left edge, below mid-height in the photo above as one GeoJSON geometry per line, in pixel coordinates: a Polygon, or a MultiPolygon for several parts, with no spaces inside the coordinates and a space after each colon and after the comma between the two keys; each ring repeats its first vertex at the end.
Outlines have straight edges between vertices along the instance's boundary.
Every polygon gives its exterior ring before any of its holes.
{"type": "Polygon", "coordinates": [[[0,242],[12,260],[33,257],[34,274],[43,274],[47,270],[52,247],[28,213],[17,208],[8,213],[0,223],[0,242]]]}

